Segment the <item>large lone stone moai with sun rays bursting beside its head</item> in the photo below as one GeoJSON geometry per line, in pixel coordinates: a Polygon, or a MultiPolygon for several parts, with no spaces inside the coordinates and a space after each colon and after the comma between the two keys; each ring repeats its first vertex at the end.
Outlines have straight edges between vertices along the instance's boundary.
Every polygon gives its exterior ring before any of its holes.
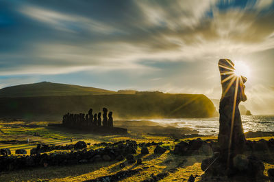
{"type": "Polygon", "coordinates": [[[234,63],[229,59],[219,60],[219,71],[222,85],[218,136],[220,159],[231,166],[233,157],[243,152],[246,142],[238,105],[241,101],[247,100],[245,95],[247,78],[234,73],[234,63]]]}

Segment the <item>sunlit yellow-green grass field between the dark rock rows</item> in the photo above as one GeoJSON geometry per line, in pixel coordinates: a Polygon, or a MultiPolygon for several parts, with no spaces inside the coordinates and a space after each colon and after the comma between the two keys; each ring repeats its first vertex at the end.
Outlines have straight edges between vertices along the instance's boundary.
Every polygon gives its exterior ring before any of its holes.
{"type": "MultiPolygon", "coordinates": [[[[167,181],[188,181],[188,178],[192,174],[195,181],[248,181],[248,179],[224,179],[220,180],[220,177],[214,179],[206,179],[202,174],[201,161],[206,156],[178,156],[171,154],[170,150],[173,150],[175,141],[171,137],[158,137],[151,135],[134,135],[131,133],[125,136],[98,136],[90,133],[75,133],[73,130],[48,128],[47,122],[0,122],[0,140],[12,140],[26,141],[29,138],[29,144],[0,144],[0,148],[10,148],[12,153],[18,148],[29,149],[34,148],[36,144],[69,144],[70,139],[73,138],[73,143],[79,140],[90,142],[91,144],[99,143],[102,141],[120,141],[125,139],[134,139],[138,143],[151,142],[151,141],[163,141],[162,147],[168,149],[163,155],[153,154],[155,146],[149,147],[149,155],[140,155],[140,148],[138,148],[135,155],[136,159],[142,159],[142,165],[136,164],[129,165],[123,169],[119,167],[120,162],[101,162],[101,163],[87,163],[79,164],[75,166],[49,166],[47,168],[35,168],[26,170],[16,170],[11,172],[1,172],[0,181],[87,181],[95,179],[97,177],[103,177],[105,175],[116,174],[121,170],[135,169],[147,166],[146,170],[143,170],[132,177],[127,177],[121,181],[142,181],[151,178],[151,175],[157,175],[160,172],[167,172],[170,169],[175,169],[173,172],[169,172],[167,177],[160,180],[161,182],[167,181]],[[37,135],[38,133],[38,135],[37,135]]],[[[264,137],[270,139],[270,137],[264,137]]],[[[195,138],[187,138],[195,139],[195,138]]],[[[187,140],[184,139],[184,140],[187,140]]],[[[216,139],[216,137],[202,137],[202,139],[216,139]]],[[[256,140],[262,138],[254,138],[256,140]]],[[[92,148],[93,146],[90,146],[92,148]]],[[[264,154],[262,154],[264,155],[264,154]]],[[[264,163],[266,174],[269,168],[274,168],[273,163],[264,163]]]]}

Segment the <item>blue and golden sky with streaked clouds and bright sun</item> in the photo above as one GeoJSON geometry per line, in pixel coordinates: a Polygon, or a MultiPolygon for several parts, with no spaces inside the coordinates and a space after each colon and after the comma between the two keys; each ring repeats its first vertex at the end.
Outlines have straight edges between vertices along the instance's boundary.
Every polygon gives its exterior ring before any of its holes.
{"type": "Polygon", "coordinates": [[[245,106],[274,114],[274,2],[0,0],[0,88],[34,82],[221,98],[243,62],[245,106]]]}

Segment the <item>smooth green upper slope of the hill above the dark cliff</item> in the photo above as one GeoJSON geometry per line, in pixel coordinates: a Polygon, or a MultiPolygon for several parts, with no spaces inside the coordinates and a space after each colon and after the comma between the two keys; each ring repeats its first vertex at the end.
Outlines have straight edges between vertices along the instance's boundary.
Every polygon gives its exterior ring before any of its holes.
{"type": "Polygon", "coordinates": [[[113,94],[115,91],[82,87],[74,84],[60,84],[52,82],[39,82],[34,84],[20,84],[0,89],[0,98],[61,96],[61,95],[101,95],[113,94]]]}

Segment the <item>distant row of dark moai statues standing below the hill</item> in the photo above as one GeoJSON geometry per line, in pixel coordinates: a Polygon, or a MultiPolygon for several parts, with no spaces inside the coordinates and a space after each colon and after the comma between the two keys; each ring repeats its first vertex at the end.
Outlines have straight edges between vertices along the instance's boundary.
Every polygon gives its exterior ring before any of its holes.
{"type": "Polygon", "coordinates": [[[85,115],[84,113],[72,114],[66,113],[63,116],[64,126],[109,126],[113,127],[112,111],[108,113],[108,109],[103,108],[103,122],[101,120],[101,112],[92,114],[92,109],[85,115]]]}

